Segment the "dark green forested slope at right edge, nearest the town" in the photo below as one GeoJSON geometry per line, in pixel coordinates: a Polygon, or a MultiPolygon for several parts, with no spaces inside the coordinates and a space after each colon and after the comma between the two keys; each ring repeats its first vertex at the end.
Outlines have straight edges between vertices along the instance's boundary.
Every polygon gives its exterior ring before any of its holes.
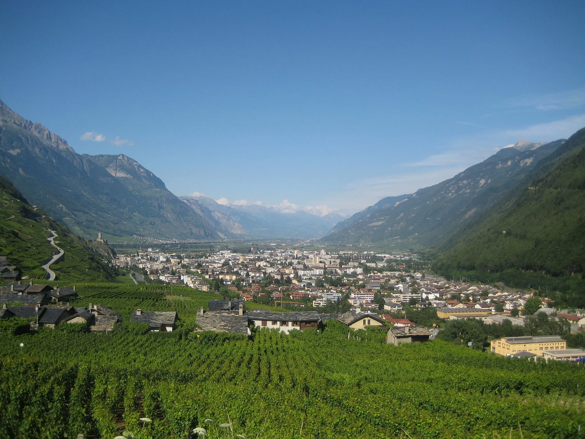
{"type": "Polygon", "coordinates": [[[585,270],[585,128],[441,248],[438,269],[585,270]]]}

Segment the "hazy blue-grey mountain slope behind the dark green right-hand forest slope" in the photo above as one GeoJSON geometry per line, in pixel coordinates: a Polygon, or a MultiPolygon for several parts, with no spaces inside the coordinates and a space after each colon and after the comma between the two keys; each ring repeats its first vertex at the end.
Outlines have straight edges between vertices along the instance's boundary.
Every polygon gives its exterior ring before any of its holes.
{"type": "Polygon", "coordinates": [[[478,217],[563,142],[563,139],[545,144],[518,142],[513,148],[499,150],[452,179],[419,189],[405,198],[396,197],[401,200],[392,198],[393,204],[358,212],[335,227],[322,241],[376,243],[411,239],[424,246],[435,245],[478,217]]]}

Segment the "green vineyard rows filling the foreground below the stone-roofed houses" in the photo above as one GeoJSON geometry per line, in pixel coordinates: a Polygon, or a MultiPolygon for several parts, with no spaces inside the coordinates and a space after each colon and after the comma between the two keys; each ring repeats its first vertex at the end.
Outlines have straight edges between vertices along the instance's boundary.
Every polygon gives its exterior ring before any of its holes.
{"type": "Polygon", "coordinates": [[[198,426],[211,437],[574,438],[585,426],[583,366],[351,338],[338,322],[253,339],[184,325],[5,336],[0,438],[185,438],[198,426]],[[140,427],[142,416],[153,423],[140,427]]]}

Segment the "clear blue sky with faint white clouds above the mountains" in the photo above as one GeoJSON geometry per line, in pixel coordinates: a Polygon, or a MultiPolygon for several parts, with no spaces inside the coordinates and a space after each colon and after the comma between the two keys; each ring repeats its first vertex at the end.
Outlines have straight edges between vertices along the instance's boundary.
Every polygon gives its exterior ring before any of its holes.
{"type": "Polygon", "coordinates": [[[177,195],[350,214],[585,126],[584,19],[570,1],[5,1],[0,99],[177,195]]]}

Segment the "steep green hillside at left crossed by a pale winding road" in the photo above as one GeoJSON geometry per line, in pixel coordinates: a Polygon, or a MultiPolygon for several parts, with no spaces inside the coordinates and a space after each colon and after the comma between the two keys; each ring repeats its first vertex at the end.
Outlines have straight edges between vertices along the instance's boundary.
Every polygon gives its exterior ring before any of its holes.
{"type": "Polygon", "coordinates": [[[51,266],[57,279],[114,279],[115,273],[102,259],[112,252],[109,246],[78,238],[46,212],[28,204],[2,177],[0,203],[0,254],[6,255],[8,265],[18,267],[23,276],[45,279],[47,273],[42,265],[56,252],[47,241],[53,230],[58,235],[55,243],[65,252],[63,260],[51,266]]]}

